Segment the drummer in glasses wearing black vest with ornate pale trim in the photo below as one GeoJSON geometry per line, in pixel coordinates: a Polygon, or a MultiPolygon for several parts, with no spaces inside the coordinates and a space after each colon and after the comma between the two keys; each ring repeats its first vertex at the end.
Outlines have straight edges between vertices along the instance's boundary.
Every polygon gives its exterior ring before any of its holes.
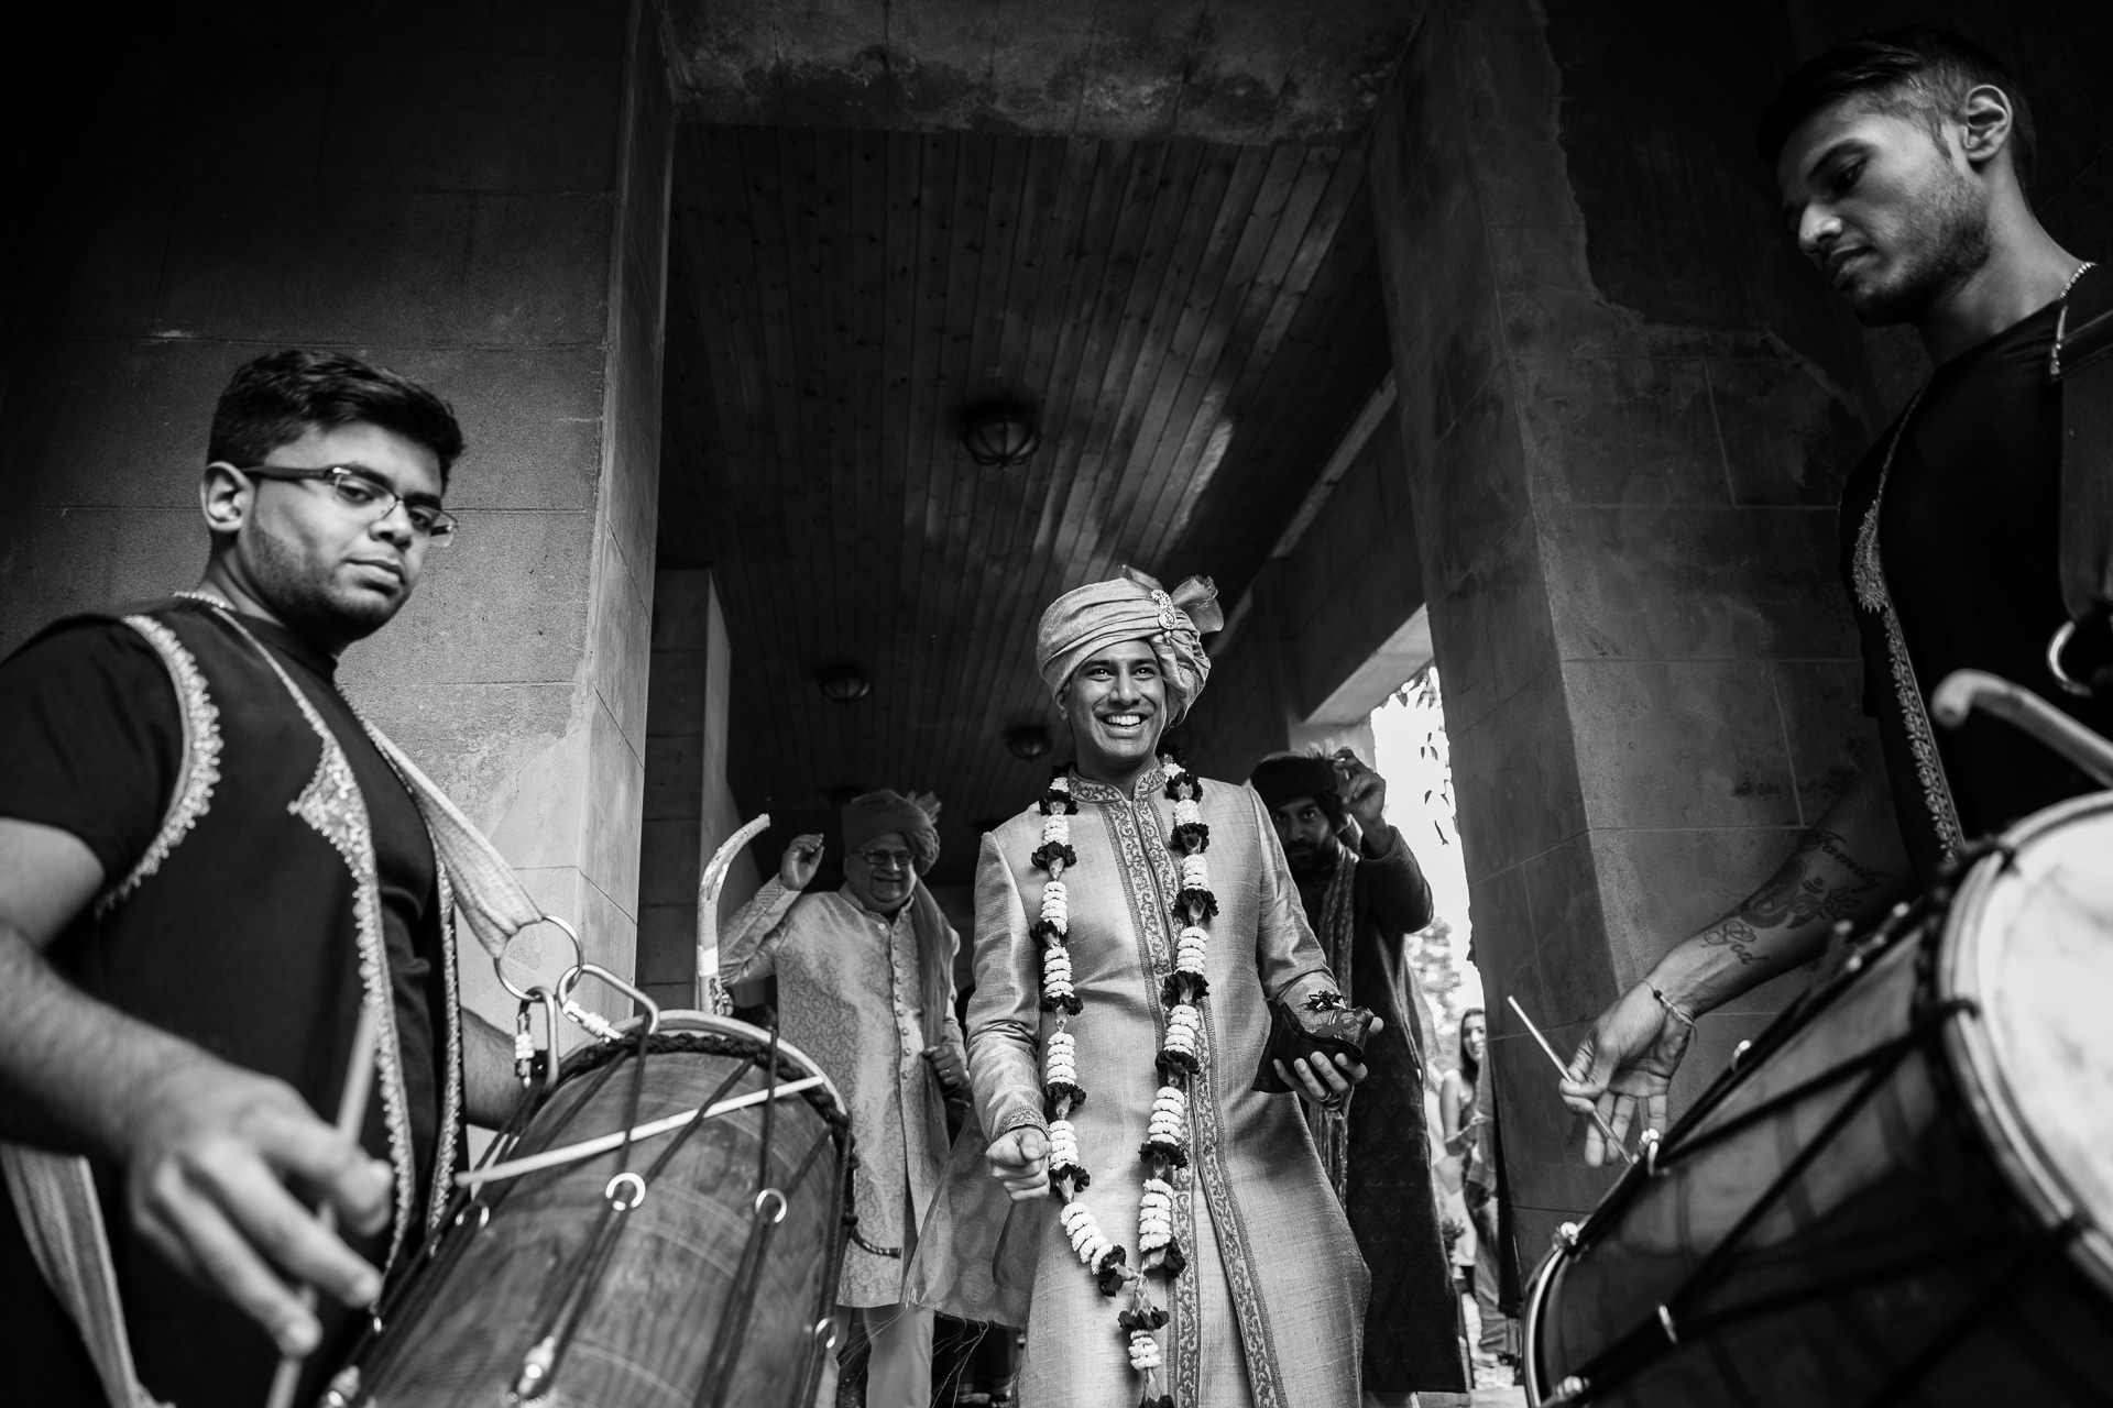
{"type": "Polygon", "coordinates": [[[281,1355],[315,1402],[463,1115],[513,1104],[511,1041],[452,998],[420,808],[336,673],[452,540],[461,452],[425,386],[260,357],[213,412],[199,585],[0,663],[8,1404],[264,1404],[281,1355]]]}

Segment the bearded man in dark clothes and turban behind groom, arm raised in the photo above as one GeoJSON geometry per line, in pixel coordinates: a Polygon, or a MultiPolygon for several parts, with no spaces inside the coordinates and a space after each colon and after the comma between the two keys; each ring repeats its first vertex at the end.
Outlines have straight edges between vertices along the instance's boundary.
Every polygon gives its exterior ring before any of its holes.
{"type": "Polygon", "coordinates": [[[1247,779],[1270,808],[1306,922],[1352,1003],[1392,1030],[1365,1051],[1371,1079],[1346,1108],[1308,1110],[1314,1144],[1371,1267],[1365,1402],[1464,1393],[1458,1311],[1424,1136],[1422,994],[1403,937],[1431,922],[1431,882],[1386,823],[1386,779],[1348,747],[1276,754],[1247,779]],[[1354,827],[1352,827],[1354,823],[1354,827]]]}

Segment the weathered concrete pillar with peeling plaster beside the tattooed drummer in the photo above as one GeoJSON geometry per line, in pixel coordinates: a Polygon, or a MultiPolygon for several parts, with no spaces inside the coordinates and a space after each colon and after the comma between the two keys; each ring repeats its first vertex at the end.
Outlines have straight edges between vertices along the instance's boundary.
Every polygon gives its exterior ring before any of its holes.
{"type": "MultiPolygon", "coordinates": [[[[1547,1058],[1878,766],[1834,566],[1853,327],[1752,118],[1779,17],[1439,0],[1373,137],[1409,500],[1528,1262],[1604,1188],[1547,1058]],[[1433,274],[1437,270],[1437,274],[1433,274]]],[[[1783,979],[1703,1022],[1714,1077],[1783,979]]]]}

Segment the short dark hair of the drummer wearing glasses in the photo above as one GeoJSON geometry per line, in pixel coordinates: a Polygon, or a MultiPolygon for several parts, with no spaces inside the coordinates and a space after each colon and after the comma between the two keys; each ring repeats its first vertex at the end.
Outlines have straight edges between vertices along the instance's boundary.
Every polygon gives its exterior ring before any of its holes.
{"type": "Polygon", "coordinates": [[[273,450],[308,431],[374,424],[416,441],[440,458],[440,483],[463,456],[454,407],[431,391],[344,353],[287,348],[245,363],[213,407],[207,460],[237,469],[262,464],[273,450]]]}

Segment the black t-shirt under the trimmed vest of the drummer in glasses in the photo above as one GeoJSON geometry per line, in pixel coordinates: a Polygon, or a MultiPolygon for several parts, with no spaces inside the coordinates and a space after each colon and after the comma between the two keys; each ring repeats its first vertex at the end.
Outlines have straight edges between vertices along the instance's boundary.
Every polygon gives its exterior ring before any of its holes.
{"type": "MultiPolygon", "coordinates": [[[[440,1131],[433,1013],[446,1001],[442,975],[414,941],[437,906],[433,846],[410,792],[338,695],[336,661],[283,627],[241,621],[323,716],[368,806],[423,1193],[440,1131]]],[[[127,625],[59,629],[0,665],[0,817],[70,832],[101,861],[104,884],[116,884],[161,830],[177,781],[184,726],[169,671],[127,625]]]]}

